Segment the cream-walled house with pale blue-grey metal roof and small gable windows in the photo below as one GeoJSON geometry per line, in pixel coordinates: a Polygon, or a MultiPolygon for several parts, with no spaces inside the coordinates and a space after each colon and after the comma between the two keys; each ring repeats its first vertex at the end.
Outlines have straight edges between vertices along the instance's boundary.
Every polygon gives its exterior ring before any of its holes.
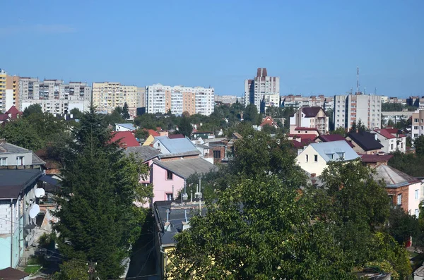
{"type": "Polygon", "coordinates": [[[311,143],[298,151],[296,162],[310,174],[320,176],[329,162],[351,161],[359,155],[344,140],[334,142],[311,143]]]}

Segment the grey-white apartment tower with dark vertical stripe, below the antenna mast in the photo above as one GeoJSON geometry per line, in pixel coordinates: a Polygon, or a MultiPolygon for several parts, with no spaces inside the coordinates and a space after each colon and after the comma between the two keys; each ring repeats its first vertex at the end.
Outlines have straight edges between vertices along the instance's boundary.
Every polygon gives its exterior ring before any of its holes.
{"type": "Polygon", "coordinates": [[[336,95],[334,97],[334,128],[351,128],[361,121],[366,128],[381,128],[382,99],[379,95],[336,95]]]}

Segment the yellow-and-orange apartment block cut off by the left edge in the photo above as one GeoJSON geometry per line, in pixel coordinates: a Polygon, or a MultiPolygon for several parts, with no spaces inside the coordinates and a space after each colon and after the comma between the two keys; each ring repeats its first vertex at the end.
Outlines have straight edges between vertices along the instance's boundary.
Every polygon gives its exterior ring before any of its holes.
{"type": "Polygon", "coordinates": [[[19,77],[7,75],[0,69],[0,111],[5,112],[11,106],[19,104],[19,77]]]}

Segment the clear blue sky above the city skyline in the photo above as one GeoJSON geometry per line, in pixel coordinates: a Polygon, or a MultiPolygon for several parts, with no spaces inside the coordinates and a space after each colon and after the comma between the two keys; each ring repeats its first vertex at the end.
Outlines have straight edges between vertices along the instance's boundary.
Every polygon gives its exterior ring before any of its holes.
{"type": "Polygon", "coordinates": [[[424,1],[1,1],[0,68],[242,95],[258,67],[281,95],[424,95],[424,1]]]}

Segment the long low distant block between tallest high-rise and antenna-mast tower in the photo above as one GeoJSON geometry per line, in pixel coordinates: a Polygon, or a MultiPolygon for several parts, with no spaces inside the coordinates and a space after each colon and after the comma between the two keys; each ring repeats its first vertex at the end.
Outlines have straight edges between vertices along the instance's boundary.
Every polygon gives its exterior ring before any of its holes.
{"type": "Polygon", "coordinates": [[[325,97],[324,95],[312,95],[310,97],[302,97],[302,95],[286,95],[281,97],[281,105],[284,107],[293,106],[298,109],[300,107],[319,106],[328,111],[334,107],[334,98],[325,97]]]}

